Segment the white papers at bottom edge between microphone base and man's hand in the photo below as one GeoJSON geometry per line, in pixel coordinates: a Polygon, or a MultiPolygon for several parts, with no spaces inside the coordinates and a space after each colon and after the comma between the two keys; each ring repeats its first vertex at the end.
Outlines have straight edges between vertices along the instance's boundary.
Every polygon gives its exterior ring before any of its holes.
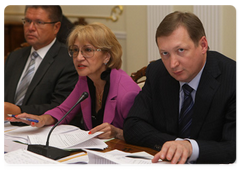
{"type": "Polygon", "coordinates": [[[157,163],[152,163],[151,159],[139,159],[139,158],[129,158],[128,155],[142,156],[146,158],[153,158],[152,155],[146,152],[138,153],[127,153],[119,150],[113,150],[110,152],[97,152],[87,150],[88,153],[88,165],[171,165],[167,161],[159,161],[157,163]]]}

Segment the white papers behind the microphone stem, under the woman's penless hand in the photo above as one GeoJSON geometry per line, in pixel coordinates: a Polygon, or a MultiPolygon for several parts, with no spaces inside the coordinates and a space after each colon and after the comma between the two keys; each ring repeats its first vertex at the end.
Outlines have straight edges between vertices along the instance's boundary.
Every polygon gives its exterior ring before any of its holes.
{"type": "MultiPolygon", "coordinates": [[[[95,148],[104,149],[107,144],[94,137],[103,132],[96,132],[88,134],[88,131],[77,129],[68,133],[53,134],[50,136],[49,145],[61,149],[81,149],[81,148],[95,148]]],[[[29,135],[29,144],[45,145],[47,135],[29,135]]]]}

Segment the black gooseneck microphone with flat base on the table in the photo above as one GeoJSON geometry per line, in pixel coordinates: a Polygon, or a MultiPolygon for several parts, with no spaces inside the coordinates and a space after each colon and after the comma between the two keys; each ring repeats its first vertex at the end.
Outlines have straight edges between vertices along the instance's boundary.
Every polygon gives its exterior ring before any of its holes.
{"type": "Polygon", "coordinates": [[[87,92],[83,92],[81,97],[78,99],[78,101],[75,103],[75,105],[50,129],[48,136],[47,136],[47,141],[46,141],[46,145],[28,145],[27,150],[37,153],[39,155],[43,155],[45,157],[57,160],[63,157],[66,157],[68,155],[70,155],[70,151],[66,151],[60,148],[56,148],[56,147],[52,147],[49,146],[49,139],[50,136],[52,134],[52,131],[55,129],[55,127],[57,127],[57,125],[59,125],[59,123],[62,122],[62,120],[79,104],[81,103],[83,100],[85,100],[88,97],[88,93],[87,92]]]}

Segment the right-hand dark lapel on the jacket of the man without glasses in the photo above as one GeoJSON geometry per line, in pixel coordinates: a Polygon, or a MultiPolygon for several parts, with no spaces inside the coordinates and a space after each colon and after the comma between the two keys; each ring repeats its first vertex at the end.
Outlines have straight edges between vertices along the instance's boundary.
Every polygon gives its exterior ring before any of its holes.
{"type": "Polygon", "coordinates": [[[199,131],[204,124],[213,96],[220,85],[216,80],[216,77],[220,74],[221,70],[214,61],[214,58],[208,56],[195,97],[196,104],[194,105],[193,111],[191,138],[197,138],[199,131]]]}

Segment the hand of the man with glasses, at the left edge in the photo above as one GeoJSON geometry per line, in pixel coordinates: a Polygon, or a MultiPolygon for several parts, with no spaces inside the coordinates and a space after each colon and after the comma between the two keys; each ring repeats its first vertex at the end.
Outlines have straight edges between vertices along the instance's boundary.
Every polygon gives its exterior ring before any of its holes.
{"type": "Polygon", "coordinates": [[[20,113],[20,107],[12,103],[2,101],[2,120],[7,120],[7,114],[18,115],[20,113]]]}

